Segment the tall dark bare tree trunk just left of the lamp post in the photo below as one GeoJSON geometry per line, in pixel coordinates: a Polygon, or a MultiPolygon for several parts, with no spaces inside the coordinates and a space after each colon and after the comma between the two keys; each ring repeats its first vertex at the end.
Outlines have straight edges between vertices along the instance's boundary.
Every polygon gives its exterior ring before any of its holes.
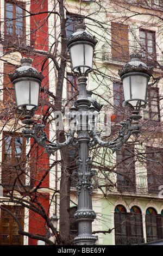
{"type": "MultiPolygon", "coordinates": [[[[67,46],[64,41],[66,38],[66,19],[64,17],[64,2],[59,0],[59,10],[61,15],[61,60],[60,68],[58,70],[58,81],[57,81],[57,102],[56,108],[61,111],[62,103],[62,87],[64,82],[65,68],[66,68],[66,58],[67,58],[67,46]]],[[[64,132],[58,133],[59,142],[65,141],[64,132]]],[[[62,169],[61,169],[61,180],[60,180],[60,236],[61,243],[67,244],[70,238],[70,174],[68,173],[68,162],[69,154],[68,149],[64,148],[60,150],[62,159],[62,169]]]]}

